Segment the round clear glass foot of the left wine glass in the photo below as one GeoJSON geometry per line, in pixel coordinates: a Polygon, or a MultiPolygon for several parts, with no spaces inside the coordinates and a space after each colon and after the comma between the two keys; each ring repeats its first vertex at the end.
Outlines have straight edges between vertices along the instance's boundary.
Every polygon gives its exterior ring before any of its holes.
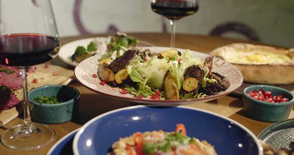
{"type": "Polygon", "coordinates": [[[23,124],[12,126],[1,135],[3,145],[18,150],[37,149],[50,144],[54,139],[55,131],[48,125],[38,123],[33,123],[33,128],[23,124]]]}

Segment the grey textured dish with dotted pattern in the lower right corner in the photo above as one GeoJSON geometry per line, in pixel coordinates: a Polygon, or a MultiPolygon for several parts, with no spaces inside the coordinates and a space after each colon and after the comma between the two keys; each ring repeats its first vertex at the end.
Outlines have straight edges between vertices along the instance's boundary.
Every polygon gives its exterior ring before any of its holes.
{"type": "Polygon", "coordinates": [[[266,127],[257,137],[274,149],[290,149],[290,143],[294,142],[293,135],[294,119],[288,119],[266,127]]]}

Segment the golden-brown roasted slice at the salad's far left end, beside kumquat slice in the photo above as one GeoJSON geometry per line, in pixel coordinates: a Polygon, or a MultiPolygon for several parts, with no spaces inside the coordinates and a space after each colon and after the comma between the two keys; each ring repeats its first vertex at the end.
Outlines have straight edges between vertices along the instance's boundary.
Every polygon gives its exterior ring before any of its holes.
{"type": "Polygon", "coordinates": [[[100,80],[105,82],[113,82],[115,80],[113,71],[108,68],[106,63],[99,65],[97,75],[100,80]]]}

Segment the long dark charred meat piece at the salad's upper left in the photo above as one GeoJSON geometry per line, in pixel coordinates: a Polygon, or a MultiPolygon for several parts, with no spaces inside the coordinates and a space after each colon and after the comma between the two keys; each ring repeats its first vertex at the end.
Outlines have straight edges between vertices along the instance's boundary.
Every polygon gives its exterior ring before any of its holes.
{"type": "Polygon", "coordinates": [[[108,68],[113,71],[113,73],[117,73],[119,70],[126,68],[131,60],[135,59],[137,54],[141,51],[136,48],[132,48],[126,51],[126,53],[118,58],[116,58],[113,62],[108,65],[108,68]]]}

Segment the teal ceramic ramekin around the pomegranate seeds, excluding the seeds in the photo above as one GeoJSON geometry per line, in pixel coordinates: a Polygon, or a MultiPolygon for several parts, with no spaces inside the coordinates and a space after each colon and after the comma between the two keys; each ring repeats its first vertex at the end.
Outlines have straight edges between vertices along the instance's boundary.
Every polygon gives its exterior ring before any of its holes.
{"type": "Polygon", "coordinates": [[[245,114],[255,120],[263,122],[278,122],[288,119],[294,103],[294,96],[291,92],[274,86],[268,85],[254,85],[249,86],[243,90],[243,102],[245,114]],[[263,89],[271,91],[274,95],[282,95],[289,98],[289,101],[282,103],[269,103],[254,99],[247,95],[248,92],[263,89]]]}

